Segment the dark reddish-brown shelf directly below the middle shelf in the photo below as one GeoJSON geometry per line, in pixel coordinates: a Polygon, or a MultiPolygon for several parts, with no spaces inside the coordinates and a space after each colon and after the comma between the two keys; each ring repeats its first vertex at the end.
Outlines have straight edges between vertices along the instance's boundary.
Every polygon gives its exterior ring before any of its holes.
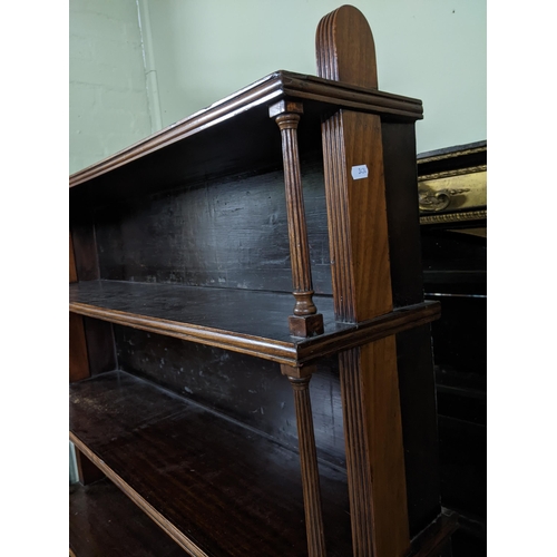
{"type": "MultiPolygon", "coordinates": [[[[125,372],[70,385],[70,439],[194,556],[302,556],[299,455],[125,372]]],[[[328,555],[351,555],[346,476],[320,463],[328,555]]]]}

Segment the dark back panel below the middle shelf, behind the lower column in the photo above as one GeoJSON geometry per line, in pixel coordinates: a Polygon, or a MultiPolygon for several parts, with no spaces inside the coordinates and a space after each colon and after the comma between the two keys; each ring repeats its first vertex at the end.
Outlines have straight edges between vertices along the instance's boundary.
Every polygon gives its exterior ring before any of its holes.
{"type": "MultiPolygon", "coordinates": [[[[297,448],[292,388],[277,363],[115,325],[119,368],[148,379],[278,442],[297,448]]],[[[344,466],[344,434],[334,358],[311,381],[321,458],[344,466]]]]}

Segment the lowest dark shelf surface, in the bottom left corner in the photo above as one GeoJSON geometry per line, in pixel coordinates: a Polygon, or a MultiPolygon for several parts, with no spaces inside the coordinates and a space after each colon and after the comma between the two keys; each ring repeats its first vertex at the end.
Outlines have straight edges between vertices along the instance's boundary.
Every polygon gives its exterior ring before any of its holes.
{"type": "Polygon", "coordinates": [[[76,557],[186,556],[108,479],[70,486],[69,545],[76,557]]]}

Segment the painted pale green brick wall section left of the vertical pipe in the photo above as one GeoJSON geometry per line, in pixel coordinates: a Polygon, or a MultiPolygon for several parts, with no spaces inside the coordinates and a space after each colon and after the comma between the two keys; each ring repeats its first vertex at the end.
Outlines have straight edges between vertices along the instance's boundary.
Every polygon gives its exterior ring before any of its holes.
{"type": "Polygon", "coordinates": [[[152,133],[135,0],[69,2],[70,173],[152,133]]]}

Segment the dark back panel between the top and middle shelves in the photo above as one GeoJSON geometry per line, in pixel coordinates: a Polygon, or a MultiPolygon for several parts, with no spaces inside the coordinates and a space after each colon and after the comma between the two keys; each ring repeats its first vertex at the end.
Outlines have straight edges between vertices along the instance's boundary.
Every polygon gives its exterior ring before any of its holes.
{"type": "MultiPolygon", "coordinates": [[[[319,159],[304,162],[302,180],[315,291],[329,294],[319,159]]],[[[101,278],[292,290],[282,169],[104,205],[95,211],[95,229],[101,278]]]]}

